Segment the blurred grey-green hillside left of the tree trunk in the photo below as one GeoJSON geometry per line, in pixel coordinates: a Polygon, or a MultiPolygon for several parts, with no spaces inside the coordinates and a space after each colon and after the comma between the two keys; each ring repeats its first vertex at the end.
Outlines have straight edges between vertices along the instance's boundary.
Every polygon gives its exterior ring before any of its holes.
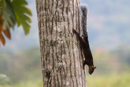
{"type": "Polygon", "coordinates": [[[41,78],[40,48],[12,54],[0,51],[0,73],[8,75],[12,83],[41,78]]]}

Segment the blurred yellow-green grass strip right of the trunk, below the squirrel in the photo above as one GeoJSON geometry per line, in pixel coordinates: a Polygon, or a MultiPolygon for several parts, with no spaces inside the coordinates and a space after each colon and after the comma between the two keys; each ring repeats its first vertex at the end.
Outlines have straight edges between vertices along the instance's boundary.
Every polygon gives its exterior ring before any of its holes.
{"type": "Polygon", "coordinates": [[[87,76],[88,87],[129,87],[130,73],[87,76]]]}

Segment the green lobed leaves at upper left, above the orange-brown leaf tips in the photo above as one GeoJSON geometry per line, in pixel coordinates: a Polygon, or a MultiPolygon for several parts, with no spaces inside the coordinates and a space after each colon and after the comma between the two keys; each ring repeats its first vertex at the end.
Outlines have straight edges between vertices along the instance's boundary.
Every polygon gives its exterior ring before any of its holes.
{"type": "Polygon", "coordinates": [[[22,25],[25,34],[30,31],[30,23],[32,22],[29,16],[32,12],[25,5],[28,5],[26,0],[2,0],[0,3],[0,16],[2,16],[2,29],[14,28],[17,23],[22,25]]]}

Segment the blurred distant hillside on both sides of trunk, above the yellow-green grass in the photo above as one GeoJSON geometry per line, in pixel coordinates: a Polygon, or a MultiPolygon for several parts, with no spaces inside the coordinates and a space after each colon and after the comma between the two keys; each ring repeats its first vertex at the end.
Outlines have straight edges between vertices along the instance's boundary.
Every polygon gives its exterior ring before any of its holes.
{"type": "MultiPolygon", "coordinates": [[[[94,71],[97,75],[110,73],[129,72],[130,47],[118,47],[111,51],[98,48],[92,51],[94,71]]],[[[87,68],[87,66],[86,66],[87,68]]],[[[0,73],[6,74],[11,82],[26,81],[30,79],[42,79],[40,48],[31,48],[16,53],[0,51],[0,73]]]]}

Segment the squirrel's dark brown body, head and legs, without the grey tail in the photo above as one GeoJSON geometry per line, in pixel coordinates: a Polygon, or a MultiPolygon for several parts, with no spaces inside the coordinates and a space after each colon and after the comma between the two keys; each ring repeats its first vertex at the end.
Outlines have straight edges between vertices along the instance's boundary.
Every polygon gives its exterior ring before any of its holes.
{"type": "Polygon", "coordinates": [[[89,74],[92,74],[94,69],[96,68],[93,64],[93,56],[89,47],[89,42],[88,42],[88,37],[80,37],[79,33],[73,29],[73,33],[77,36],[77,39],[80,42],[80,45],[82,47],[82,52],[84,56],[84,61],[83,61],[83,69],[85,65],[88,65],[88,71],[89,74]]]}

